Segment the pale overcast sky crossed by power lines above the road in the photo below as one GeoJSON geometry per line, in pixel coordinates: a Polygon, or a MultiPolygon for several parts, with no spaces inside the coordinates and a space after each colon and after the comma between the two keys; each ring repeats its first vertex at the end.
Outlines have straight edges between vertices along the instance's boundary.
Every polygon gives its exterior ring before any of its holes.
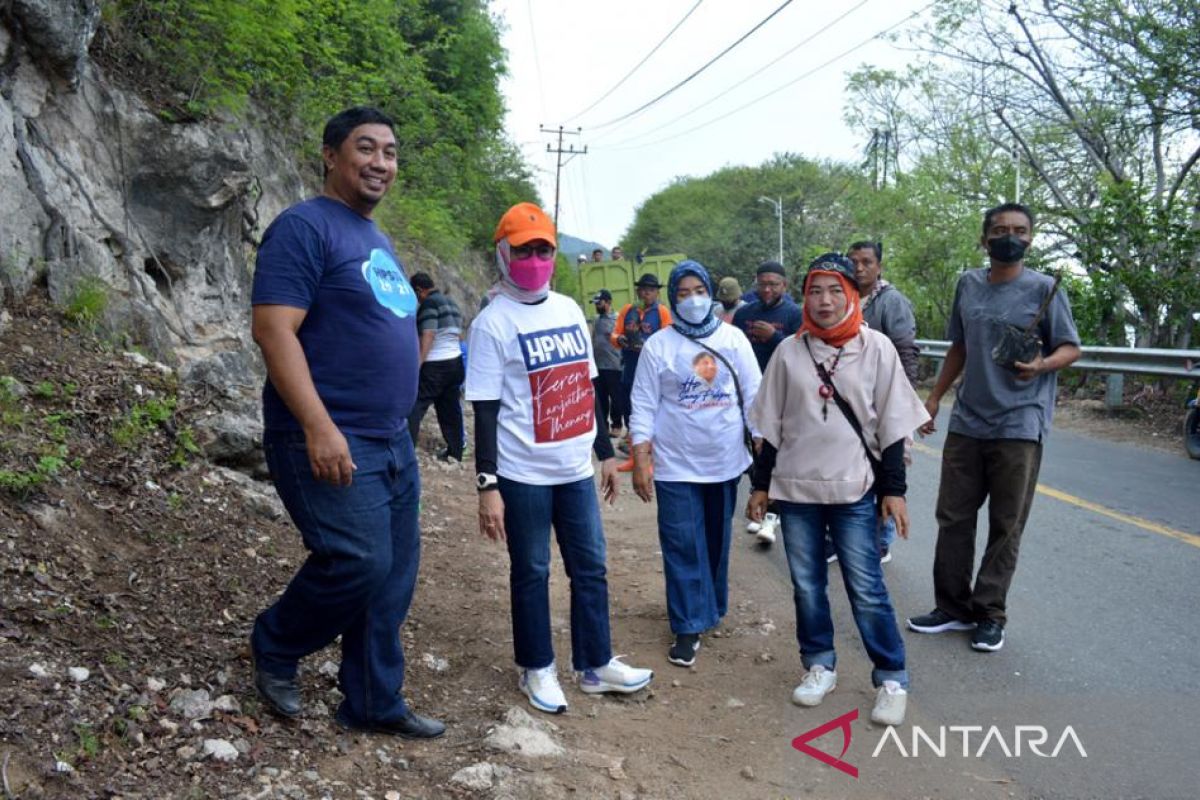
{"type": "MultiPolygon", "coordinates": [[[[702,0],[632,77],[586,110],[696,5],[696,0],[492,0],[509,54],[509,76],[502,84],[509,136],[535,169],[551,213],[554,156],[546,152],[546,144],[557,146],[557,137],[539,133],[539,126],[583,128],[581,136],[564,137],[564,146],[588,146],[588,155],[563,168],[559,228],[564,233],[606,247],[616,243],[637,206],[676,176],[758,164],[776,152],[862,160],[866,140],[842,122],[845,76],[863,64],[899,67],[913,58],[871,37],[925,8],[928,0],[793,0],[682,89],[608,125],[686,78],[782,5],[782,0],[702,0]],[[838,60],[822,66],[832,59],[838,60]],[[808,72],[812,74],[802,78],[808,72]],[[720,116],[725,119],[704,125],[720,116]]],[[[914,24],[910,19],[896,30],[914,24]]]]}

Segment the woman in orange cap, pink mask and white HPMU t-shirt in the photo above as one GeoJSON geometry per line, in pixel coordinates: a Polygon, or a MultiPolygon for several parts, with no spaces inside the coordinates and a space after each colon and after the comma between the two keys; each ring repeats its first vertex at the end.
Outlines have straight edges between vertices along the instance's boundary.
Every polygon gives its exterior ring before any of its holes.
{"type": "Polygon", "coordinates": [[[632,693],[654,673],[614,657],[608,626],[600,488],[617,495],[617,459],[596,414],[595,362],[587,320],[550,290],[554,223],[533,203],[509,209],[496,228],[500,279],[470,326],[467,399],[475,408],[479,529],[509,551],[517,687],[539,711],[562,714],[550,615],[550,531],[571,596],[571,662],[580,691],[632,693]]]}

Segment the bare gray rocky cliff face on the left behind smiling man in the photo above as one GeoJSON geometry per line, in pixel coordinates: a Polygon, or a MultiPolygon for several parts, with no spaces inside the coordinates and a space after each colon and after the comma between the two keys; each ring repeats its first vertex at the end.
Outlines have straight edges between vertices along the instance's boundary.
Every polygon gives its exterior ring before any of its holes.
{"type": "Polygon", "coordinates": [[[254,461],[253,247],[312,187],[268,128],[170,125],[110,85],[88,58],[98,13],[94,0],[0,5],[0,279],[11,300],[44,281],[60,306],[102,284],[107,332],[220,410],[200,432],[210,457],[254,461]]]}

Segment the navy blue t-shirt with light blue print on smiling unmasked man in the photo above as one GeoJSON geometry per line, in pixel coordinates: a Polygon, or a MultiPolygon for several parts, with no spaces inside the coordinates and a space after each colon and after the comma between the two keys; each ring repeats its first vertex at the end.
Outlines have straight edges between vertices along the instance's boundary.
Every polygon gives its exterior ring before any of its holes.
{"type": "MultiPolygon", "coordinates": [[[[343,433],[391,437],[416,399],[416,294],[374,222],[325,197],[263,235],[251,302],[305,308],[298,336],[317,395],[343,433]]],[[[263,423],[300,423],[268,379],[263,423]]]]}

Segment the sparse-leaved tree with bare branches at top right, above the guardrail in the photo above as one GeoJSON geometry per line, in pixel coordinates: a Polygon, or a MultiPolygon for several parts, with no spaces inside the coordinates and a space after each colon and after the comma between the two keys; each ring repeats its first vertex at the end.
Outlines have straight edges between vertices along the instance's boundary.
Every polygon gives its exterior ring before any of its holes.
{"type": "MultiPolygon", "coordinates": [[[[924,91],[940,102],[881,95],[874,112],[907,125],[896,138],[919,143],[914,164],[948,163],[953,136],[1015,148],[1032,179],[1022,199],[1045,216],[1046,258],[1078,264],[1110,301],[1091,336],[1123,341],[1129,325],[1139,344],[1186,347],[1200,308],[1198,31],[1190,0],[943,0],[919,38],[942,59],[936,91],[924,91]]],[[[880,83],[922,94],[912,74],[880,83]]]]}

